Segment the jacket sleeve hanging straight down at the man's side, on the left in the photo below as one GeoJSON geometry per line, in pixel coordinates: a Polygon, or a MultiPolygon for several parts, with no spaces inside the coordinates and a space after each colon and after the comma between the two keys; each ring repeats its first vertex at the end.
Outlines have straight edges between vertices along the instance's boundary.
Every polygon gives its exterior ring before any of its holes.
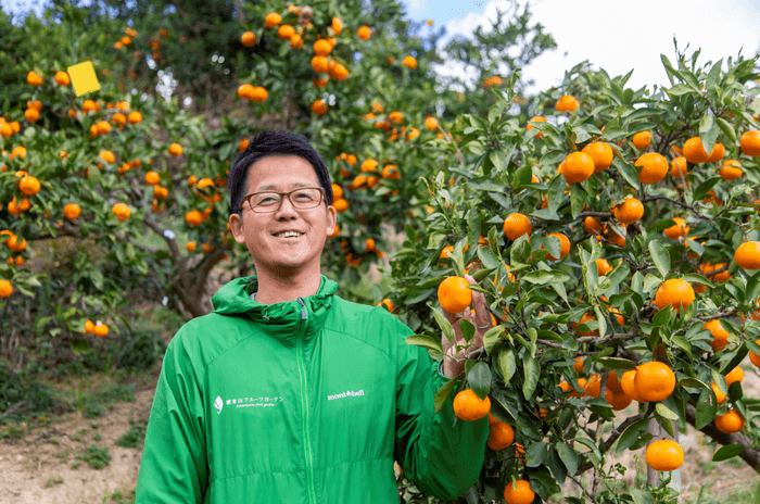
{"type": "Polygon", "coordinates": [[[164,355],[145,432],[136,504],[201,503],[206,492],[203,381],[180,333],[164,355]]]}

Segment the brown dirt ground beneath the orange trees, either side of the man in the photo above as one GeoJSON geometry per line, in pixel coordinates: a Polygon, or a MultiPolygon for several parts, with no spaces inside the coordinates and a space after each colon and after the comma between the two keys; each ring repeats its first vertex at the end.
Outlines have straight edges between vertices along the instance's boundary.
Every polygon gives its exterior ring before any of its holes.
{"type": "MultiPolygon", "coordinates": [[[[157,373],[153,375],[157,379],[157,373]]],[[[141,446],[119,448],[116,440],[129,430],[130,417],[148,418],[154,382],[139,386],[134,403],[117,403],[97,419],[72,417],[37,429],[23,439],[0,442],[0,504],[131,502],[128,496],[137,484],[142,450],[141,446]],[[101,439],[93,439],[98,434],[101,439]],[[102,469],[93,469],[87,463],[72,468],[76,454],[92,443],[109,446],[111,462],[102,469]]],[[[747,395],[760,396],[760,375],[756,368],[745,367],[743,385],[747,395]]],[[[621,412],[625,413],[633,414],[635,410],[621,412]]],[[[681,469],[684,502],[696,502],[702,486],[709,486],[709,495],[714,497],[730,495],[732,491],[757,486],[760,481],[760,477],[738,458],[711,463],[713,451],[700,432],[689,428],[680,442],[686,455],[681,469]]],[[[643,452],[625,452],[612,461],[629,468],[623,478],[628,484],[636,484],[635,467],[646,477],[643,452]]],[[[578,487],[573,489],[569,483],[565,491],[575,494],[578,487]]]]}

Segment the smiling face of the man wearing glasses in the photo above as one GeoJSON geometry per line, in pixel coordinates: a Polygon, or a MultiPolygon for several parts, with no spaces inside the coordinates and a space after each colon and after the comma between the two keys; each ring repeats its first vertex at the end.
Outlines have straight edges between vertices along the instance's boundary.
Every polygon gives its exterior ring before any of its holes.
{"type": "MultiPolygon", "coordinates": [[[[297,155],[266,156],[249,167],[245,194],[261,191],[287,192],[299,187],[320,187],[312,164],[297,155]]],[[[243,202],[242,210],[229,218],[232,236],[245,243],[253,256],[256,272],[266,268],[282,275],[292,275],[311,267],[319,270],[325,240],[335,227],[337,213],[325,202],[306,210],[296,210],[289,199],[282,198],[275,212],[257,213],[243,202]],[[296,238],[276,236],[281,231],[299,231],[296,238]]]]}

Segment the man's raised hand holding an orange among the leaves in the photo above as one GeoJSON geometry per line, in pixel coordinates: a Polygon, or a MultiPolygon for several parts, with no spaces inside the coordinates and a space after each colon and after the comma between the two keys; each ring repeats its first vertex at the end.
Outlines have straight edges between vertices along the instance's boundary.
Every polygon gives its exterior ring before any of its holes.
{"type": "MultiPolygon", "coordinates": [[[[470,275],[465,275],[465,279],[470,285],[477,284],[474,278],[470,275]]],[[[476,333],[470,340],[469,346],[461,348],[459,353],[455,353],[456,346],[453,341],[448,341],[448,338],[445,336],[441,338],[441,343],[443,344],[443,374],[448,378],[454,378],[465,369],[467,355],[483,348],[483,335],[492,327],[491,313],[485,303],[485,295],[482,292],[472,291],[472,306],[474,307],[474,315],[470,313],[469,308],[465,308],[460,314],[451,313],[441,308],[443,315],[454,327],[454,336],[458,345],[467,345],[465,337],[461,335],[461,329],[459,328],[459,320],[465,318],[476,326],[476,333]]]]}

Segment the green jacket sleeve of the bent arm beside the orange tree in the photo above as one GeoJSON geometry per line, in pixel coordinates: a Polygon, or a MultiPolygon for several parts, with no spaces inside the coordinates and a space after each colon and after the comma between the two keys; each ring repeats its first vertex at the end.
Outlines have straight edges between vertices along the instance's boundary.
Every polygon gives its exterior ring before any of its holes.
{"type": "Polygon", "coordinates": [[[395,458],[404,476],[425,493],[455,499],[478,480],[489,436],[487,418],[465,421],[449,396],[438,415],[435,392],[449,381],[427,350],[406,343],[414,331],[398,323],[395,458]],[[456,425],[454,424],[455,419],[456,425]]]}

